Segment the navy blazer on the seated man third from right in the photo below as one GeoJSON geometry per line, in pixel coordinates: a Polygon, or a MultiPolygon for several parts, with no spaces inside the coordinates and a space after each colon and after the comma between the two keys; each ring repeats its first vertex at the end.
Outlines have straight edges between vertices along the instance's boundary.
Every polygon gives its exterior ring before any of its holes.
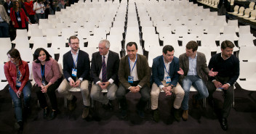
{"type": "MultiPolygon", "coordinates": [[[[172,63],[169,64],[169,76],[171,77],[172,82],[171,85],[177,85],[177,82],[179,81],[180,75],[177,73],[179,70],[179,59],[175,56],[172,59],[172,63]]],[[[153,83],[156,83],[156,85],[163,85],[161,81],[164,80],[164,56],[157,56],[155,59],[153,59],[153,65],[152,65],[152,78],[153,83]]]]}

